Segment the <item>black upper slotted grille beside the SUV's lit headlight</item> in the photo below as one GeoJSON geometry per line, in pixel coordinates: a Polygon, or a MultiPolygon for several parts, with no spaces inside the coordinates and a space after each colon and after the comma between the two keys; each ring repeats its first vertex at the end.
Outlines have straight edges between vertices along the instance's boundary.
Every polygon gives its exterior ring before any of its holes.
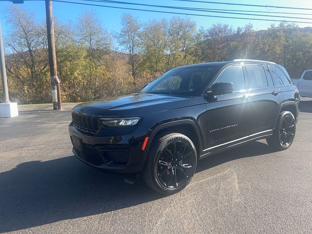
{"type": "Polygon", "coordinates": [[[86,132],[98,132],[98,118],[72,112],[73,124],[76,128],[86,132]]]}

